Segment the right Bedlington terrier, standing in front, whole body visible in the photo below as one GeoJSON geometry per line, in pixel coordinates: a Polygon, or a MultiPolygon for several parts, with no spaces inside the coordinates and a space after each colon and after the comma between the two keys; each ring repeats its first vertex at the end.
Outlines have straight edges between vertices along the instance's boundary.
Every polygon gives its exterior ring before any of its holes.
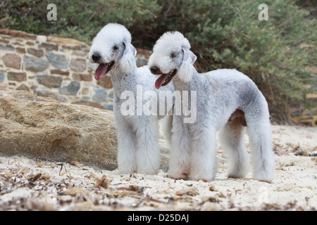
{"type": "MultiPolygon", "coordinates": [[[[172,79],[182,96],[196,94],[197,119],[184,123],[184,113],[173,117],[169,175],[175,179],[212,181],[216,176],[216,131],[228,154],[228,177],[242,178],[249,169],[244,146],[247,127],[254,179],[273,179],[274,154],[268,104],[256,84],[237,70],[214,70],[199,74],[193,64],[197,57],[180,32],[166,32],[154,45],[149,69],[156,89],[172,79]]],[[[190,104],[190,103],[188,103],[190,104]]]]}

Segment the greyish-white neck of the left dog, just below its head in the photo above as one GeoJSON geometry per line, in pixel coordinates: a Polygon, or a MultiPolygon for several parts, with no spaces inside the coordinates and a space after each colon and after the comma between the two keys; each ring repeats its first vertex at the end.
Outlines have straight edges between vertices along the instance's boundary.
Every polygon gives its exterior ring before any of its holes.
{"type": "Polygon", "coordinates": [[[132,68],[130,72],[123,72],[120,66],[111,70],[111,82],[113,91],[120,96],[123,91],[132,91],[137,86],[137,66],[132,68]]]}

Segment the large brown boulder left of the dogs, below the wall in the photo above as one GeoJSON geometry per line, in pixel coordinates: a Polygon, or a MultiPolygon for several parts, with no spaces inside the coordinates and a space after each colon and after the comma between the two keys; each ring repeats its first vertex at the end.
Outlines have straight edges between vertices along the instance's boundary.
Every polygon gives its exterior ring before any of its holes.
{"type": "Polygon", "coordinates": [[[0,153],[116,169],[111,111],[0,89],[0,153]]]}

